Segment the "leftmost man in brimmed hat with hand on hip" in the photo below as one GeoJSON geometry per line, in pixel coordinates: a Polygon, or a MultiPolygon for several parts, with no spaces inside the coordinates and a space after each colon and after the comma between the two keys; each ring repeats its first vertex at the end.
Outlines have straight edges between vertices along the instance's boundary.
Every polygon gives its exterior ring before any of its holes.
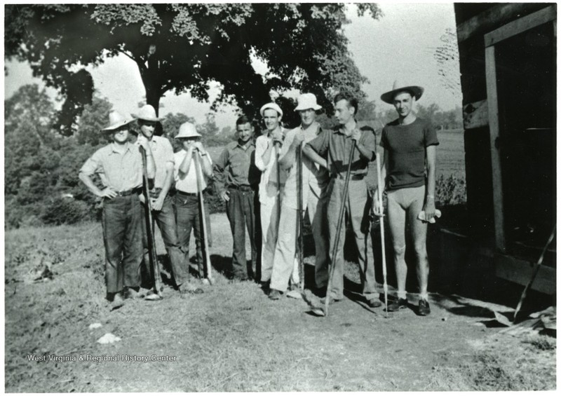
{"type": "MultiPolygon", "coordinates": [[[[142,155],[128,141],[133,121],[130,116],[112,111],[109,126],[102,131],[111,134],[113,142],[95,151],[79,172],[83,184],[102,198],[105,284],[107,299],[114,306],[121,305],[123,298],[134,296],[140,287],[142,210],[138,194],[142,191],[142,155]],[[94,174],[103,175],[104,189],[95,185],[94,174]]],[[[139,137],[138,144],[146,151],[148,177],[154,177],[150,145],[144,137],[139,137]]]]}

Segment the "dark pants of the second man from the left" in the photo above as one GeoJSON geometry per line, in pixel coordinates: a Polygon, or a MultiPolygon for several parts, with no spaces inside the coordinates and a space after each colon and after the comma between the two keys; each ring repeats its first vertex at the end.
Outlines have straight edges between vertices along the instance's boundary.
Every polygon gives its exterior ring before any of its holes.
{"type": "MultiPolygon", "coordinates": [[[[142,210],[146,210],[146,205],[142,205],[142,210]]],[[[160,228],[165,250],[168,252],[168,256],[170,257],[171,271],[173,272],[175,285],[180,286],[183,282],[187,281],[187,279],[184,278],[183,268],[186,268],[188,264],[185,262],[185,253],[183,252],[179,239],[177,238],[173,198],[169,195],[165,196],[161,210],[152,210],[152,221],[158,224],[158,228],[160,228]]],[[[154,229],[154,224],[152,224],[152,229],[154,229]]],[[[147,273],[151,275],[150,282],[152,282],[154,279],[154,268],[151,268],[150,266],[148,235],[146,233],[145,220],[142,221],[142,243],[144,245],[144,268],[147,270],[147,273]]]]}

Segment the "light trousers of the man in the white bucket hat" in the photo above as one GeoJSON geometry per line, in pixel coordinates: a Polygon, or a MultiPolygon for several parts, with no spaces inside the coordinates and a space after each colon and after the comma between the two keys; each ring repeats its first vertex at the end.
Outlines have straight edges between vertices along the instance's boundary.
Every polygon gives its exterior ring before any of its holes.
{"type": "MultiPolygon", "coordinates": [[[[311,219],[313,241],[316,245],[316,286],[327,285],[327,247],[329,245],[327,221],[325,221],[325,193],[320,198],[313,191],[308,194],[308,215],[311,219]]],[[[278,224],[278,240],[273,261],[271,289],[284,292],[288,282],[299,282],[298,252],[298,210],[282,205],[278,224]]]]}

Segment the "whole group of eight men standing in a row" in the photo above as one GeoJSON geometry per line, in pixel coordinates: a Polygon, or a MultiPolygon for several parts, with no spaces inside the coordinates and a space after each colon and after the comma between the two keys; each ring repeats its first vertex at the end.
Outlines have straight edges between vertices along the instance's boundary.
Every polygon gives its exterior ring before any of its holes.
{"type": "MultiPolygon", "coordinates": [[[[422,93],[423,88],[419,86],[396,81],[391,91],[381,95],[381,100],[393,104],[398,118],[388,123],[381,133],[384,156],[378,161],[382,161],[381,179],[386,182],[378,189],[383,189],[387,196],[398,283],[397,298],[384,301],[386,309],[392,311],[407,306],[407,229],[417,260],[418,313],[427,315],[430,308],[426,226],[435,215],[438,139],[430,123],[417,118],[412,111],[422,93]]],[[[365,183],[369,163],[377,160],[376,135],[370,127],[358,127],[355,97],[339,93],[333,102],[338,125],[332,130],[325,130],[317,123],[321,107],[311,93],[299,96],[295,111],[301,123],[292,130],[282,127],[283,110],[274,102],[264,104],[259,111],[265,130],[257,139],[252,120],[247,116],[239,117],[236,141],[227,144],[214,164],[192,124],[181,126],[175,138],[182,140],[183,148],[173,154],[167,139],[154,136],[154,125],[159,119],[151,107],[144,107],[137,115],[142,133],[134,144],[126,136],[133,120],[111,114],[111,125],[105,130],[113,134],[113,142],[98,150],[80,171],[80,178],[90,191],[104,200],[108,299],[120,301],[121,293],[124,297],[135,296],[140,286],[142,254],[137,252],[142,251],[143,206],[138,190],[142,184],[141,152],[144,151],[145,171],[149,178],[154,178],[150,191],[152,210],[180,292],[202,292],[189,281],[189,236],[194,228],[198,262],[202,262],[196,200],[201,185],[197,186],[196,182],[197,178],[199,182],[202,180],[204,189],[208,178],[213,177],[217,192],[226,203],[234,239],[232,278],[260,282],[271,300],[278,300],[289,289],[297,287],[304,275],[299,272],[302,264],[299,257],[303,254],[299,254],[301,247],[297,240],[302,232],[301,211],[307,209],[316,248],[315,289],[330,301],[341,301],[346,227],[337,225],[342,210],[344,223],[349,223],[356,243],[365,302],[372,308],[381,306],[369,238],[371,214],[384,216],[384,210],[371,198],[365,183]],[[193,162],[197,163],[193,158],[200,159],[200,170],[193,166],[193,162]],[[90,179],[96,172],[102,176],[103,190],[90,179]],[[170,196],[174,181],[175,208],[170,196]],[[252,251],[250,265],[245,254],[246,228],[252,251]],[[335,242],[337,233],[339,243],[335,242]],[[330,285],[329,290],[327,285],[330,285]]],[[[144,250],[146,246],[144,236],[144,250]]]]}

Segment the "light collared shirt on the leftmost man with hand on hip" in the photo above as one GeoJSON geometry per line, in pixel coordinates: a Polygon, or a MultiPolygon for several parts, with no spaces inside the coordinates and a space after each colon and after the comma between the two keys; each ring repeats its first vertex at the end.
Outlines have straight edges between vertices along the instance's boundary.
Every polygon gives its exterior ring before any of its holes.
{"type": "Polygon", "coordinates": [[[128,191],[142,186],[142,155],[135,144],[127,143],[121,152],[115,143],[95,151],[80,168],[80,173],[101,174],[102,184],[114,191],[128,191]]]}

